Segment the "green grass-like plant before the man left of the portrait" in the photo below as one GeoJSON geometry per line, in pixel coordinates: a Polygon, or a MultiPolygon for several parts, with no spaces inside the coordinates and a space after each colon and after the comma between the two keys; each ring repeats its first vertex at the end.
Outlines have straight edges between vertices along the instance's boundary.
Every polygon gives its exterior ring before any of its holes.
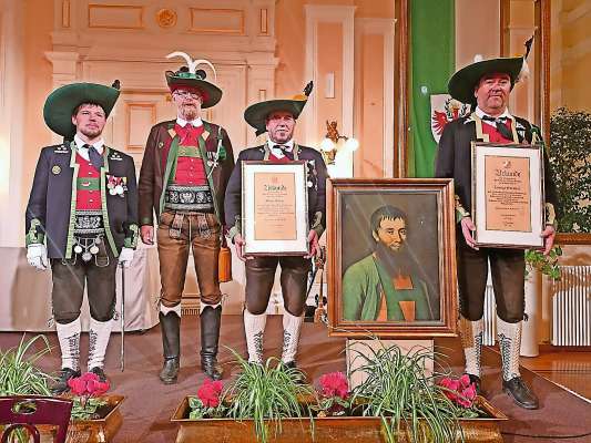
{"type": "Polygon", "coordinates": [[[276,358],[265,364],[253,364],[231,349],[241,372],[232,387],[224,393],[223,402],[228,405],[227,415],[234,420],[254,421],[258,441],[268,441],[268,424],[275,424],[275,434],[282,432],[282,419],[308,418],[300,399],[314,395],[310,385],[302,384],[304,374],[286,368],[276,358]]]}

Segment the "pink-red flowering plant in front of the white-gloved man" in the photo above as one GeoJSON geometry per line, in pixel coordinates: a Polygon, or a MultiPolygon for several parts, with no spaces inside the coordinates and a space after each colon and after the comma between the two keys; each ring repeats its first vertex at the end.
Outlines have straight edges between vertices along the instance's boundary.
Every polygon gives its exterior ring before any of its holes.
{"type": "Polygon", "coordinates": [[[98,409],[108,403],[101,395],[111,388],[109,382],[101,382],[95,373],[86,372],[68,380],[68,385],[73,394],[72,420],[98,419],[98,409]]]}

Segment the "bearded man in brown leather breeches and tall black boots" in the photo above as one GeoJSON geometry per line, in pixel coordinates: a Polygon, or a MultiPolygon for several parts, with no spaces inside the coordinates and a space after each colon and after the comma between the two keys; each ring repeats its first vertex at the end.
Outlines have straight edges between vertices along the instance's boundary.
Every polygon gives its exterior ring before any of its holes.
{"type": "Polygon", "coordinates": [[[202,120],[202,110],[214,106],[222,91],[197,70],[205,60],[191,60],[187,66],[167,71],[166,82],[176,105],[176,120],[152,127],[140,173],[140,224],[142,240],[154,241],[154,213],[162,290],[160,324],[164,363],[160,380],[176,383],[181,357],[181,298],[188,251],[200,288],[201,367],[212,379],[222,378],[217,364],[222,292],[217,275],[223,236],[224,193],[234,166],[226,131],[202,120]]]}

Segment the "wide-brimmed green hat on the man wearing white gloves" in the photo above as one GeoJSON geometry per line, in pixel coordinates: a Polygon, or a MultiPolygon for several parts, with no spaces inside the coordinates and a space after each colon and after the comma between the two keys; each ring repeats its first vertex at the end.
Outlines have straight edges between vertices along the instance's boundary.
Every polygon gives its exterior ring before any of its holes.
{"type": "Polygon", "coordinates": [[[112,86],[96,83],[72,83],[58,87],[45,100],[43,106],[45,124],[55,134],[72,140],[75,134],[72,114],[77,106],[82,103],[98,104],[108,117],[119,99],[119,80],[115,80],[112,86]]]}

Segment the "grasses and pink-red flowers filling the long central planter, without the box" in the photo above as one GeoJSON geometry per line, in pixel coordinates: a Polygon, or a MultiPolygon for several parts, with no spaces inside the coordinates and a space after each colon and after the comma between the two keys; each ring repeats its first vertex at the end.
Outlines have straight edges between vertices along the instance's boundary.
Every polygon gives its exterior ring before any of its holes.
{"type": "Polygon", "coordinates": [[[235,353],[242,369],[235,381],[223,387],[205,380],[197,395],[188,398],[188,418],[253,420],[257,440],[265,443],[272,423],[276,436],[282,432],[282,419],[309,419],[314,434],[317,419],[374,416],[381,421],[389,443],[401,434],[412,442],[447,443],[462,434],[459,419],[487,415],[468,375],[426,373],[427,361],[434,359],[430,350],[404,353],[379,343],[378,349],[368,346],[356,356],[363,362],[353,373],[363,371],[365,380],[353,389],[343,372],[322,375],[314,388],[277,359],[253,364],[235,353]]]}

